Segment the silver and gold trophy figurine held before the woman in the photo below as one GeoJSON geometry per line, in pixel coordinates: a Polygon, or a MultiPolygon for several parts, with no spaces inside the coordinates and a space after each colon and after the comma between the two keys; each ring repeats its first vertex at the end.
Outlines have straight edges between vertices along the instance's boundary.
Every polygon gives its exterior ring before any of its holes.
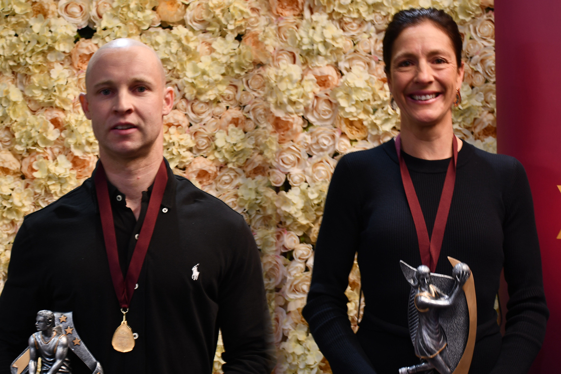
{"type": "Polygon", "coordinates": [[[477,327],[473,276],[463,262],[448,260],[452,277],[400,262],[411,284],[409,332],[421,363],[402,367],[399,374],[467,374],[470,368],[477,327]]]}

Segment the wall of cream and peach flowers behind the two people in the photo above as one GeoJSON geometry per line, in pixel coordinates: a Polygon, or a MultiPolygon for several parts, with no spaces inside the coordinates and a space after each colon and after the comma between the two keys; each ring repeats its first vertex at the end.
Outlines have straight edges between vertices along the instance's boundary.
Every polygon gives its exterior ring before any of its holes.
{"type": "MultiPolygon", "coordinates": [[[[342,155],[397,134],[381,41],[393,13],[419,6],[460,25],[466,77],[454,129],[495,152],[493,0],[0,0],[0,287],[24,216],[94,168],[98,145],[77,100],[89,58],[135,38],[156,50],[176,91],[164,118],[174,172],[254,232],[276,372],[330,372],[301,315],[325,194],[342,155]]],[[[355,266],[346,292],[355,329],[359,289],[355,266]]]]}

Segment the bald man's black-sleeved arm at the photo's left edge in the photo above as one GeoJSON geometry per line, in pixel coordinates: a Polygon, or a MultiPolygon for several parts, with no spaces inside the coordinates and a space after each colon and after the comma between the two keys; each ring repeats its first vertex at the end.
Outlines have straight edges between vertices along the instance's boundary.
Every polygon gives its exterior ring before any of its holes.
{"type": "Polygon", "coordinates": [[[26,221],[17,233],[8,266],[8,279],[0,295],[0,374],[10,374],[12,361],[28,345],[35,330],[42,284],[35,242],[26,221]]]}

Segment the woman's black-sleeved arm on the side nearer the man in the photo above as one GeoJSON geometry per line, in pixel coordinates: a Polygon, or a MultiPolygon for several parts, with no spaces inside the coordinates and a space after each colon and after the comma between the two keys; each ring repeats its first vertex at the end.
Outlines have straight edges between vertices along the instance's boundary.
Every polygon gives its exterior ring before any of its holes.
{"type": "Polygon", "coordinates": [[[302,314],[334,374],[374,374],[347,317],[348,285],[361,228],[361,191],[348,164],[339,160],[329,185],[314,254],[314,270],[302,314]]]}

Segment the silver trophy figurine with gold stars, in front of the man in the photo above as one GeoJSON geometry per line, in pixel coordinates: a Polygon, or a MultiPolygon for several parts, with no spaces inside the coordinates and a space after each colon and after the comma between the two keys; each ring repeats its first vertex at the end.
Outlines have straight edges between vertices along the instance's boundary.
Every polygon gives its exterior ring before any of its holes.
{"type": "Polygon", "coordinates": [[[41,358],[40,374],[71,374],[68,353],[74,352],[93,374],[103,374],[101,364],[95,360],[78,335],[72,312],[39,311],[35,319],[37,332],[29,337],[29,347],[11,364],[11,374],[37,374],[37,361],[41,358]]]}

